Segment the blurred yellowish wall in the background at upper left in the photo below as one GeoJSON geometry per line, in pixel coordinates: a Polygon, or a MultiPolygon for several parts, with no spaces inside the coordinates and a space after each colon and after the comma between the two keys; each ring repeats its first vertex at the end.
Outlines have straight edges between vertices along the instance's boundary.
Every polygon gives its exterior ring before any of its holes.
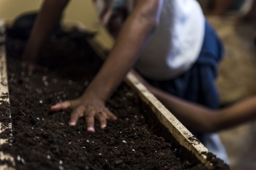
{"type": "MultiPolygon", "coordinates": [[[[43,0],[0,0],[0,19],[14,20],[23,12],[37,11],[43,0]]],[[[63,21],[79,21],[91,31],[97,31],[96,39],[104,48],[111,48],[114,40],[98,19],[91,0],[70,1],[65,8],[63,21]]]]}

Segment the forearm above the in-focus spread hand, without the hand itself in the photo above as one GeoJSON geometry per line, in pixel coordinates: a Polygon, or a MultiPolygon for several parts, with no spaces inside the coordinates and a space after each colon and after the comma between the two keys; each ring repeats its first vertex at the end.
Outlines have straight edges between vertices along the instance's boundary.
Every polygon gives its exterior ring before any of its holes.
{"type": "Polygon", "coordinates": [[[137,61],[143,46],[156,27],[156,18],[159,16],[159,4],[156,3],[158,1],[139,2],[142,6],[139,4],[127,18],[112,52],[85,93],[94,93],[106,101],[137,61]],[[150,10],[144,8],[143,3],[146,3],[150,10]]]}

